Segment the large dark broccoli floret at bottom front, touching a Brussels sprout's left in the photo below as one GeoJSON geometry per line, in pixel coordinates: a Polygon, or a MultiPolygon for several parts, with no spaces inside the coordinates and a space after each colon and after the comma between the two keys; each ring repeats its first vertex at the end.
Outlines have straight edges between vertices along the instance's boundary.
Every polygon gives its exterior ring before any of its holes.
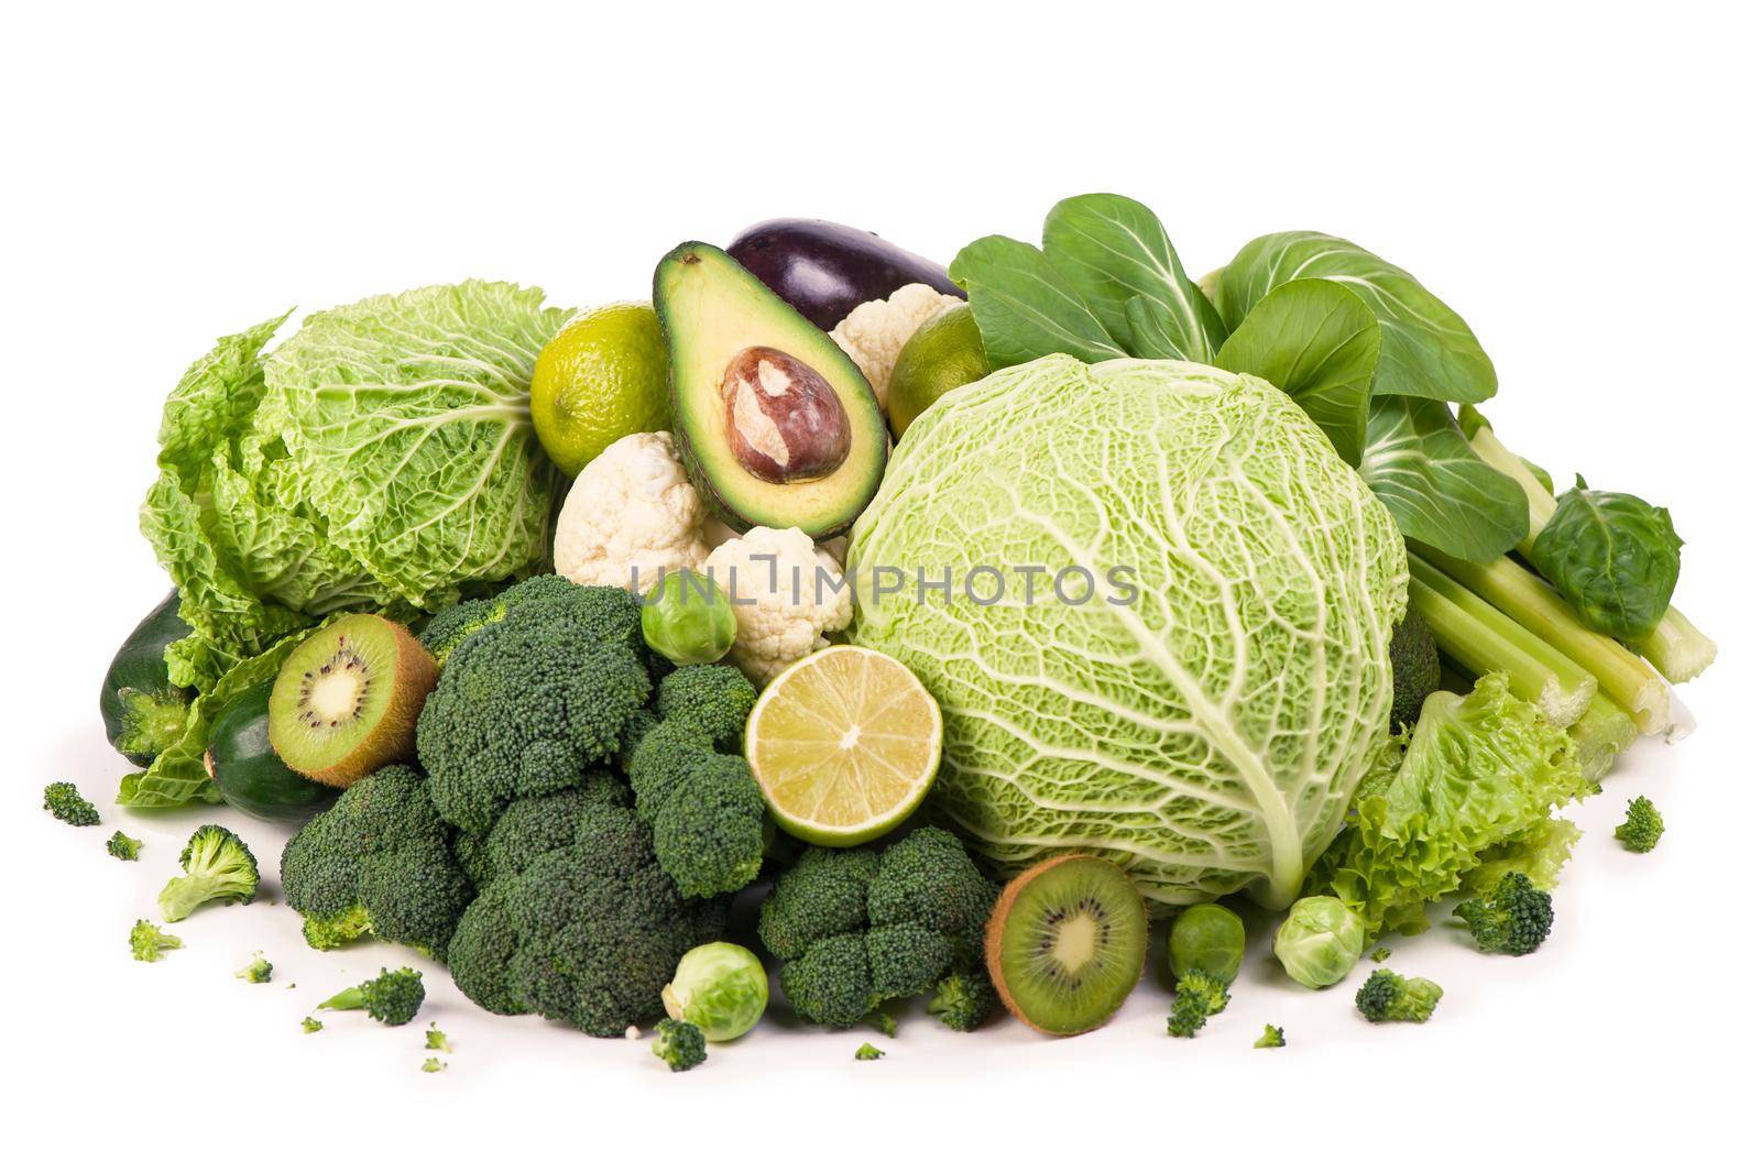
{"type": "Polygon", "coordinates": [[[634,810],[583,802],[569,846],[484,886],[447,965],[479,1008],[622,1036],[664,1015],[680,957],[717,939],[724,920],[722,904],[680,897],[634,810]]]}

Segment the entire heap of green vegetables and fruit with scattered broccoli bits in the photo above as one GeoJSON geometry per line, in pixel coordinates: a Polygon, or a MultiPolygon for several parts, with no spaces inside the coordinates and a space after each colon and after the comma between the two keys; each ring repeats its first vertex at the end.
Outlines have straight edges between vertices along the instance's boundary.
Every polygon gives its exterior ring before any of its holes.
{"type": "MultiPolygon", "coordinates": [[[[828,1034],[1079,1034],[1155,987],[1153,944],[1175,1041],[1291,1043],[1240,1024],[1266,951],[1368,1024],[1449,1018],[1386,941],[1448,914],[1543,953],[1566,814],[1717,654],[1671,513],[1555,492],[1481,414],[1467,322],[1342,238],[1192,278],[1146,206],[1088,194],[947,271],[778,220],[653,285],[572,319],[477,280],[278,315],[166,402],[141,529],[174,592],[104,675],[116,803],[280,826],[312,950],[423,962],[317,1009],[402,1027],[449,980],[650,1029],[678,1073],[773,988],[828,1034]]],[[[42,807],[107,821],[67,780],[42,807]]],[[[1662,835],[1638,795],[1601,840],[1662,835]]],[[[181,851],[180,934],[136,921],[137,962],[276,890],[224,823],[102,846],[181,851]]]]}

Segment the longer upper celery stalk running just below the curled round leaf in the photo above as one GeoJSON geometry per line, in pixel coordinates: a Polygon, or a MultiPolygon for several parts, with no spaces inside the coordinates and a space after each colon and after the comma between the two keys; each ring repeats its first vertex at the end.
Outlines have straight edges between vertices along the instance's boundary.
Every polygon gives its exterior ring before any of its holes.
{"type": "Polygon", "coordinates": [[[1661,733],[1669,724],[1669,685],[1618,641],[1578,624],[1571,606],[1544,580],[1509,557],[1492,564],[1469,564],[1426,544],[1411,543],[1407,548],[1409,555],[1416,553],[1428,566],[1448,573],[1536,638],[1588,669],[1595,677],[1597,689],[1631,714],[1641,733],[1661,733]]]}

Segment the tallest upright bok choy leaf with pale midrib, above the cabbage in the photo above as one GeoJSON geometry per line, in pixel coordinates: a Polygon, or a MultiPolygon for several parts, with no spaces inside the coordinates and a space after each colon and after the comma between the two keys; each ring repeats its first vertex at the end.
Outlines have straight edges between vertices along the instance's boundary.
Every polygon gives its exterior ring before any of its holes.
{"type": "Polygon", "coordinates": [[[1118,194],[1065,197],[1046,215],[1043,245],[1053,268],[1131,354],[1208,363],[1222,342],[1222,321],[1187,278],[1168,231],[1148,206],[1118,194]],[[1134,335],[1146,338],[1132,329],[1129,310],[1136,298],[1162,308],[1155,317],[1166,342],[1152,345],[1178,356],[1132,349],[1134,335]]]}

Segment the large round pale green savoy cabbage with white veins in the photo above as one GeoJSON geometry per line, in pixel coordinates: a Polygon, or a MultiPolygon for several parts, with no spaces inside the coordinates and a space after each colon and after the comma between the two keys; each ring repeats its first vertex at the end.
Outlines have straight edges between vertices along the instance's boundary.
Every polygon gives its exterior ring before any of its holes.
{"type": "Polygon", "coordinates": [[[940,701],[937,803],[1006,870],[1079,849],[1159,911],[1284,907],[1386,743],[1400,534],[1250,375],[1050,356],[962,388],[900,442],[849,566],[854,643],[940,701]]]}

